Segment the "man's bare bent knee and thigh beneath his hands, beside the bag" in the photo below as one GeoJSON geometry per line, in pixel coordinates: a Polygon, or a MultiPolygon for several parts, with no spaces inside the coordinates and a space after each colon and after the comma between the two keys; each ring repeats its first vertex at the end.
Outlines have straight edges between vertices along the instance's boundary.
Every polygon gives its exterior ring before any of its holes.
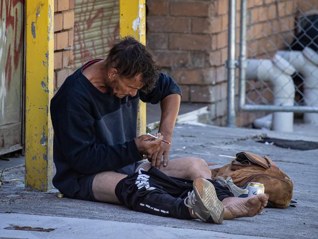
{"type": "MultiPolygon", "coordinates": [[[[139,165],[139,168],[148,170],[151,167],[151,163],[146,162],[139,165]]],[[[185,178],[195,180],[198,178],[211,178],[211,171],[208,168],[206,162],[203,159],[195,157],[184,157],[178,159],[171,159],[166,167],[163,167],[162,162],[160,165],[160,171],[164,172],[168,176],[185,178]]]]}

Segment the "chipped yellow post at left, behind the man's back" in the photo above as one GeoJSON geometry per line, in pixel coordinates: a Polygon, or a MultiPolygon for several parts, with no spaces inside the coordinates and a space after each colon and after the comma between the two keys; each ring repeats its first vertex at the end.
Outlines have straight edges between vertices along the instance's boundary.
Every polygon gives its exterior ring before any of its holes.
{"type": "Polygon", "coordinates": [[[53,0],[26,2],[25,190],[52,187],[53,0]]]}

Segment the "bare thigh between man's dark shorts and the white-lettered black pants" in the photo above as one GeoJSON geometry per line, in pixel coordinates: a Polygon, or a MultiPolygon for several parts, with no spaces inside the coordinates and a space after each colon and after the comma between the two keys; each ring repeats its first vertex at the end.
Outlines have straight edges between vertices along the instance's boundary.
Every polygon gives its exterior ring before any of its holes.
{"type": "Polygon", "coordinates": [[[100,202],[120,204],[115,194],[115,188],[118,182],[125,177],[127,175],[117,172],[97,173],[92,186],[94,197],[100,202]]]}

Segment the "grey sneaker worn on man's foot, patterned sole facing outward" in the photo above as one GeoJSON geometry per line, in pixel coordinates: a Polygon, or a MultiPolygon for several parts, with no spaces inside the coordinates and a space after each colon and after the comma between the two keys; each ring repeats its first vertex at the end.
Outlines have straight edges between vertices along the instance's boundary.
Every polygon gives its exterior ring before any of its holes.
{"type": "Polygon", "coordinates": [[[222,224],[224,205],[218,199],[214,186],[204,178],[193,181],[193,191],[188,192],[184,204],[192,209],[201,221],[222,224]]]}

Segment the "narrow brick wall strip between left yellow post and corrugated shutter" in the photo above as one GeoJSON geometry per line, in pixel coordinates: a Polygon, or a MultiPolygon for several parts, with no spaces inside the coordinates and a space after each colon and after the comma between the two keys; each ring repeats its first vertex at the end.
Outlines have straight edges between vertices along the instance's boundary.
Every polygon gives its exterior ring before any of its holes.
{"type": "Polygon", "coordinates": [[[54,91],[71,73],[74,1],[54,0],[54,91]]]}

